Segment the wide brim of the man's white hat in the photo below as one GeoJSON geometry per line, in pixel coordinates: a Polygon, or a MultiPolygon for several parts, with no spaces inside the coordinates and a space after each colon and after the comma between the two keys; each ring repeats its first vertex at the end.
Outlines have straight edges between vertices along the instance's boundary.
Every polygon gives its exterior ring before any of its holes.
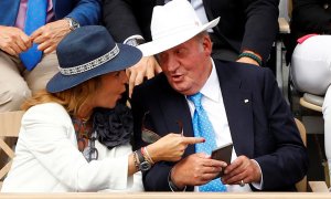
{"type": "Polygon", "coordinates": [[[207,29],[215,27],[218,23],[218,21],[220,21],[220,17],[204,25],[201,25],[197,29],[196,28],[186,29],[185,31],[177,32],[172,35],[168,35],[162,39],[157,39],[151,42],[140,44],[137,48],[142,52],[143,56],[154,55],[160,52],[167,51],[171,48],[174,48],[179,44],[182,44],[185,41],[189,41],[196,34],[201,33],[202,31],[205,31],[207,29]]]}

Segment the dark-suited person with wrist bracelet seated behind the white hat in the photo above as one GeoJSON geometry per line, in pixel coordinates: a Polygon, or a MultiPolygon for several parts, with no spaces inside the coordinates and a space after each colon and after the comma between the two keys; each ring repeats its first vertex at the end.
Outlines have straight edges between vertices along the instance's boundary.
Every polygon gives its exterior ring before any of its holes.
{"type": "MultiPolygon", "coordinates": [[[[170,0],[105,0],[104,23],[116,41],[138,45],[151,41],[150,22],[154,6],[170,0]]],[[[191,0],[202,22],[221,17],[207,30],[213,42],[212,56],[264,65],[269,57],[278,30],[279,0],[191,0]]],[[[129,69],[130,90],[160,72],[153,56],[143,57],[129,69]]]]}

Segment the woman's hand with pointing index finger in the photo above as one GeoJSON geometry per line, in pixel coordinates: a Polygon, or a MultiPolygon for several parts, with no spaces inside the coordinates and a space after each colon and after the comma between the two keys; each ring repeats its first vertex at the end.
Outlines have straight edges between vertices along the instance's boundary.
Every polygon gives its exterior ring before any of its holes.
{"type": "Polygon", "coordinates": [[[180,134],[168,134],[158,142],[148,145],[147,150],[154,163],[160,160],[178,161],[182,158],[188,145],[204,143],[202,137],[184,137],[180,134]]]}

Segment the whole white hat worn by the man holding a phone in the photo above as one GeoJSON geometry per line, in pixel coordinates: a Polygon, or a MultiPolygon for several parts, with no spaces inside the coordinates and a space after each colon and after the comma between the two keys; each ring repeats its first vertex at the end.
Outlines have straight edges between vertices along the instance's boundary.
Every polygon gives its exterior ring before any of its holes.
{"type": "Polygon", "coordinates": [[[151,20],[152,41],[138,45],[143,56],[158,54],[215,27],[220,17],[202,24],[188,0],[172,0],[153,9],[151,20]]]}

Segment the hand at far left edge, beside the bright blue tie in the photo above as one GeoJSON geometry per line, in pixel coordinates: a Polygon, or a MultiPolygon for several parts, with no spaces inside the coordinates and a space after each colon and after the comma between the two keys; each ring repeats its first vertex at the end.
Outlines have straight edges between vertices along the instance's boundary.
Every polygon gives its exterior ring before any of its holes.
{"type": "Polygon", "coordinates": [[[21,29],[0,25],[0,49],[2,51],[18,56],[31,45],[32,41],[21,29]]]}

